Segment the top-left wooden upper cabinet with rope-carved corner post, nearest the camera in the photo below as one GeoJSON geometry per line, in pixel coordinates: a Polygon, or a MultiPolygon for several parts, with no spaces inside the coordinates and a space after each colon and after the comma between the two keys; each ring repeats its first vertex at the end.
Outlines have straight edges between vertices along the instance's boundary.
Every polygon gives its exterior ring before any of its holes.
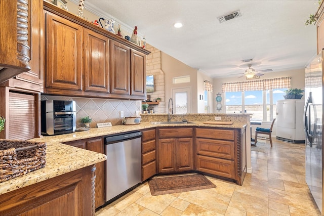
{"type": "Polygon", "coordinates": [[[29,10],[23,0],[0,1],[0,83],[30,70],[29,10]]]}

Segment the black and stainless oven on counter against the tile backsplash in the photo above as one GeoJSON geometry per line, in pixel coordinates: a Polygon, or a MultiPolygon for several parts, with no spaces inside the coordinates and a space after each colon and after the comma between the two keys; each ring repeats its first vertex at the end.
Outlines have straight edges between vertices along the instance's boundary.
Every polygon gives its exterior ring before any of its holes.
{"type": "Polygon", "coordinates": [[[42,101],[42,134],[59,135],[75,132],[75,101],[42,101]]]}

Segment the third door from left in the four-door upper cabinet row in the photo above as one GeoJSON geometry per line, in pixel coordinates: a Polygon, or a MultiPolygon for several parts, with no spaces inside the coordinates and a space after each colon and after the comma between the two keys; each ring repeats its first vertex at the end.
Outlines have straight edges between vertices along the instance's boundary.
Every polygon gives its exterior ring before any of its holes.
{"type": "Polygon", "coordinates": [[[113,94],[130,94],[130,50],[119,42],[110,42],[110,85],[113,94]]]}

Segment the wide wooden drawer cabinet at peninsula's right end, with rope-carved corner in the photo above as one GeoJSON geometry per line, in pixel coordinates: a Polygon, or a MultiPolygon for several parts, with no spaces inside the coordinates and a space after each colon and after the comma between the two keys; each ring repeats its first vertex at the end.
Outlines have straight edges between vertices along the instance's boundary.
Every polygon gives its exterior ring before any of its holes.
{"type": "Polygon", "coordinates": [[[195,128],[196,170],[242,185],[246,172],[245,129],[195,128]]]}

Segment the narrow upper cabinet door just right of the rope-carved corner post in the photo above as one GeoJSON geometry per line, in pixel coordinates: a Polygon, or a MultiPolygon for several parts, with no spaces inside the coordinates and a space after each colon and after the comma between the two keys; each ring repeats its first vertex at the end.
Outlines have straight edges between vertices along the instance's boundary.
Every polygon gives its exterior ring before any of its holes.
{"type": "Polygon", "coordinates": [[[16,78],[43,85],[44,41],[43,41],[43,1],[31,0],[28,4],[31,28],[28,29],[30,51],[30,71],[19,74],[16,78]]]}

